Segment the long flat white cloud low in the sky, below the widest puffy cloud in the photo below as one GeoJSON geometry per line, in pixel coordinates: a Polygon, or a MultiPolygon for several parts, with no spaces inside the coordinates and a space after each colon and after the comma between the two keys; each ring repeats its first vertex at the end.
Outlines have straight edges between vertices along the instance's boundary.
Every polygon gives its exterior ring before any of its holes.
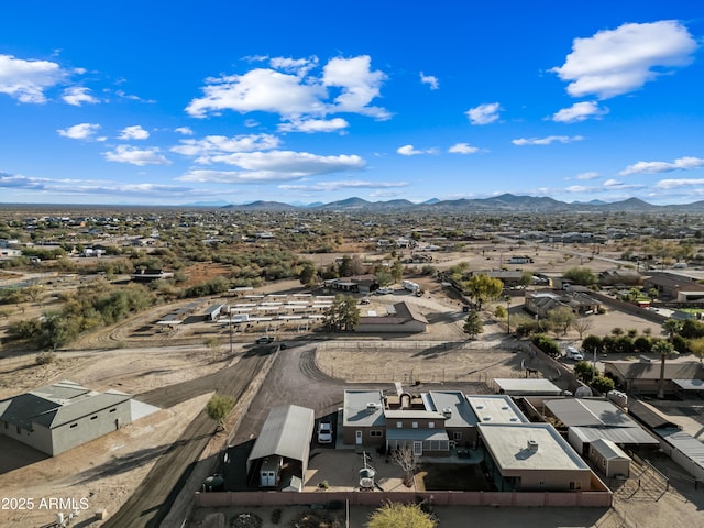
{"type": "MultiPolygon", "coordinates": [[[[232,177],[237,180],[233,183],[249,180],[276,182],[343,170],[359,170],[365,165],[364,160],[356,155],[319,156],[308,152],[293,151],[240,152],[211,155],[209,161],[233,165],[244,172],[191,170],[178,179],[209,182],[207,178],[219,178],[221,177],[219,175],[224,174],[227,177],[232,177]]],[[[217,182],[222,183],[220,179],[217,182]]]]}

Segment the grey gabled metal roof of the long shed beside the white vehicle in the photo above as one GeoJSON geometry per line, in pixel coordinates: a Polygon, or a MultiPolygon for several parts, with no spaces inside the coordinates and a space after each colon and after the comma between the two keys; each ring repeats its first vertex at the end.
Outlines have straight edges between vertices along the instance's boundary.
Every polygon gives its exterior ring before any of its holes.
{"type": "Polygon", "coordinates": [[[316,424],[312,409],[285,405],[270,410],[262,431],[254,442],[248,463],[278,454],[308,464],[310,440],[316,424]]]}

